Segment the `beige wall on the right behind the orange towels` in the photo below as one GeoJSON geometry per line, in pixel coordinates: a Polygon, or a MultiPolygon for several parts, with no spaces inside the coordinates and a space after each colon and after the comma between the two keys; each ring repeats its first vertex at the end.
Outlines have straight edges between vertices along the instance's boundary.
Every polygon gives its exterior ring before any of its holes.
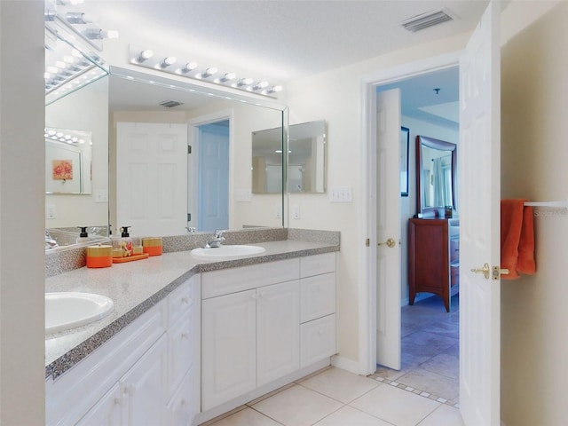
{"type": "MultiPolygon", "coordinates": [[[[568,197],[567,40],[568,2],[560,2],[502,48],[503,198],[568,197]]],[[[507,426],[568,419],[568,215],[542,211],[551,216],[535,217],[536,275],[501,281],[501,418],[507,426]]]]}

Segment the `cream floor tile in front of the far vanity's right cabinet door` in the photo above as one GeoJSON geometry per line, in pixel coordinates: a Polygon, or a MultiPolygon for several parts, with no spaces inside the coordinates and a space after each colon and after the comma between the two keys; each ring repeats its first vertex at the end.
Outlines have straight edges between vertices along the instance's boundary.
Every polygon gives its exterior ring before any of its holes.
{"type": "Polygon", "coordinates": [[[296,385],[260,401],[253,408],[286,426],[308,426],[342,406],[335,399],[296,385]]]}

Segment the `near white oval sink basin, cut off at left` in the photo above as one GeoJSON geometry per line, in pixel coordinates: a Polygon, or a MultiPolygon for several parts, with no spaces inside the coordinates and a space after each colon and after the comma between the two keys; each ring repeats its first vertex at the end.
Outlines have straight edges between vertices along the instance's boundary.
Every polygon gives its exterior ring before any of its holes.
{"type": "Polygon", "coordinates": [[[114,303],[92,293],[45,293],[45,334],[89,324],[113,312],[114,303]]]}

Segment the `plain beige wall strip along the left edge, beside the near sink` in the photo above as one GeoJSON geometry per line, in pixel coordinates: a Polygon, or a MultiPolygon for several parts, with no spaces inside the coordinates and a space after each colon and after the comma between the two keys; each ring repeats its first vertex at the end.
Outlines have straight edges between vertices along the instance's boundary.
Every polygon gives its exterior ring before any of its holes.
{"type": "Polygon", "coordinates": [[[0,424],[6,426],[44,422],[41,70],[43,1],[1,1],[0,424]]]}

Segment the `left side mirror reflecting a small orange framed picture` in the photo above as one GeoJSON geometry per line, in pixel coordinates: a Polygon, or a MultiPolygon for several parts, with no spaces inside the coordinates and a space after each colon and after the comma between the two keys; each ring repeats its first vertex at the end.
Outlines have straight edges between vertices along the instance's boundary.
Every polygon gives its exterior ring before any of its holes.
{"type": "Polygon", "coordinates": [[[51,99],[45,106],[45,128],[48,136],[48,132],[56,130],[56,134],[61,133],[63,138],[65,135],[69,138],[90,138],[89,143],[67,144],[55,143],[54,139],[46,137],[45,228],[74,232],[78,231],[77,226],[106,228],[108,76],[78,90],[68,91],[56,100],[51,99]],[[67,175],[54,178],[59,161],[66,160],[71,160],[67,162],[67,175]],[[69,165],[72,170],[69,170],[69,165]],[[69,171],[73,174],[71,179],[68,178],[71,177],[69,171]]]}

